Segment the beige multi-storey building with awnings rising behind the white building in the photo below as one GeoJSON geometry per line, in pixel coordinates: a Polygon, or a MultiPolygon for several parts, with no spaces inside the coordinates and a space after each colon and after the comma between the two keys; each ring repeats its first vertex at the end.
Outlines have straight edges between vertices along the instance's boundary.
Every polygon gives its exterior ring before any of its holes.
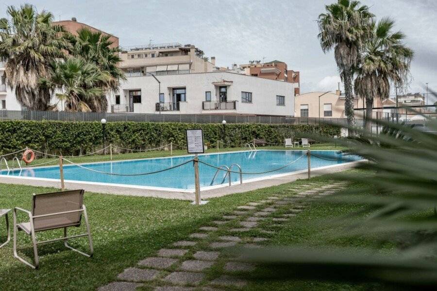
{"type": "Polygon", "coordinates": [[[202,50],[179,43],[126,47],[120,57],[120,67],[127,77],[206,73],[212,72],[215,65],[214,57],[206,61],[202,50]]]}

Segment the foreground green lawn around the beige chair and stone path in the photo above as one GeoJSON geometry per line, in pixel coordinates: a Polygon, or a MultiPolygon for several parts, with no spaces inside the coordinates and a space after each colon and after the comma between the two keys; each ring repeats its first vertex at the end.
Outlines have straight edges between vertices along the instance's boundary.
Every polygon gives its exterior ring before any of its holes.
{"type": "MultiPolygon", "coordinates": [[[[359,174],[359,172],[358,172],[359,174]]],[[[318,187],[328,183],[326,176],[312,178],[318,187]]],[[[116,279],[123,269],[134,266],[140,259],[166,247],[172,242],[183,240],[199,226],[219,219],[239,205],[264,199],[274,194],[287,192],[294,185],[308,183],[297,180],[292,183],[255,191],[232,194],[210,199],[201,207],[188,201],[151,197],[134,197],[110,194],[85,193],[95,255],[85,258],[67,250],[62,242],[39,246],[40,269],[32,270],[13,257],[12,242],[0,249],[1,290],[95,290],[116,279]]],[[[354,184],[353,187],[361,187],[354,184]]],[[[31,194],[56,191],[53,188],[0,184],[0,208],[15,206],[30,209],[31,194]]],[[[278,245],[350,245],[368,246],[371,242],[348,238],[327,240],[326,236],[338,229],[307,224],[359,210],[360,205],[338,207],[330,203],[312,202],[298,216],[271,237],[278,245]]],[[[12,218],[12,217],[11,217],[12,218]]],[[[20,219],[25,219],[20,216],[20,219]]],[[[12,220],[12,219],[11,219],[12,220]]],[[[5,240],[4,222],[0,222],[0,240],[5,240]]],[[[83,226],[81,226],[83,227],[83,226]]],[[[71,233],[80,229],[72,229],[71,233]]],[[[38,234],[39,240],[52,239],[61,235],[54,230],[38,234]]],[[[19,234],[21,254],[32,258],[32,245],[28,236],[19,234]]],[[[86,240],[81,238],[73,246],[87,250],[86,240]]],[[[218,275],[211,270],[209,276],[218,275]]],[[[259,270],[258,272],[268,272],[259,270]]],[[[146,287],[143,290],[149,290],[146,287]]],[[[228,289],[226,289],[228,290],[228,289]]],[[[367,285],[331,284],[323,282],[261,282],[254,281],[243,290],[369,290],[367,285]]]]}

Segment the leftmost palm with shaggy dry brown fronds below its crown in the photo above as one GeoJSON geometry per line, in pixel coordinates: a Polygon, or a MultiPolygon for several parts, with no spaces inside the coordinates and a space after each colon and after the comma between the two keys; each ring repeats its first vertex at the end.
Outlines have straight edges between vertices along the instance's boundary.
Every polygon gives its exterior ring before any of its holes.
{"type": "Polygon", "coordinates": [[[19,9],[9,6],[10,20],[0,19],[0,58],[5,61],[8,86],[17,101],[29,110],[50,108],[50,91],[39,86],[39,79],[48,76],[51,61],[64,58],[67,42],[64,29],[52,25],[53,15],[38,13],[30,4],[19,9]]]}

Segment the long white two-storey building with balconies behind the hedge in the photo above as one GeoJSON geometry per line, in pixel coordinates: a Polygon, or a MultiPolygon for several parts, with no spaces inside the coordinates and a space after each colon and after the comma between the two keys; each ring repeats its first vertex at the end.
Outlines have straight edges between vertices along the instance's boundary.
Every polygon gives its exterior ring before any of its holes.
{"type": "MultiPolygon", "coordinates": [[[[158,71],[156,71],[158,72],[158,71]]],[[[128,76],[111,112],[289,116],[294,84],[228,71],[128,76]]]]}

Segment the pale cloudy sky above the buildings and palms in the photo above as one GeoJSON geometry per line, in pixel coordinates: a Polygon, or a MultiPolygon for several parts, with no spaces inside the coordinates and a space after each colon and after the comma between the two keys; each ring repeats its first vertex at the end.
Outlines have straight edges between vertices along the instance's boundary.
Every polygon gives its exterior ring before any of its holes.
{"type": "MultiPolygon", "coordinates": [[[[25,1],[5,0],[8,5],[25,1]]],[[[6,2],[6,3],[5,3],[6,2]]],[[[324,54],[317,18],[334,0],[38,0],[56,20],[76,17],[119,37],[120,46],[152,43],[193,44],[216,65],[250,60],[283,61],[300,71],[301,93],[336,90],[340,81],[333,52],[324,54]]],[[[405,44],[415,51],[408,92],[437,90],[437,0],[362,0],[377,19],[390,16],[405,44]]],[[[343,88],[341,86],[341,88],[343,88]]],[[[431,97],[430,97],[431,98],[431,97]]],[[[429,102],[431,102],[430,100],[429,102]]]]}

